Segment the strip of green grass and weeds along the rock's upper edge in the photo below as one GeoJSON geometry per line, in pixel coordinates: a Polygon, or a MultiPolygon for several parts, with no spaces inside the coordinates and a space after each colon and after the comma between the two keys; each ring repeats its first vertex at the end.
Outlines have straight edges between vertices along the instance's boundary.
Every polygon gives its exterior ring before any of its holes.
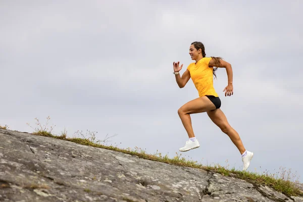
{"type": "MultiPolygon", "coordinates": [[[[36,119],[38,121],[38,119],[36,119]]],[[[49,117],[47,118],[48,123],[49,117]]],[[[29,124],[28,124],[29,125],[29,124]]],[[[253,183],[253,184],[260,184],[260,185],[266,185],[269,187],[272,187],[276,191],[279,191],[286,196],[303,196],[303,191],[296,188],[293,185],[293,181],[295,179],[295,174],[291,174],[291,170],[288,172],[285,170],[285,168],[280,167],[280,171],[276,174],[269,174],[268,171],[263,172],[263,174],[258,174],[257,172],[243,172],[243,171],[237,171],[235,168],[228,169],[227,167],[222,167],[220,165],[214,165],[214,166],[204,166],[202,164],[198,164],[197,161],[187,160],[184,157],[181,157],[182,155],[178,155],[176,153],[176,156],[173,158],[170,158],[168,155],[162,155],[161,153],[156,152],[156,154],[147,154],[144,149],[141,149],[139,147],[135,147],[134,149],[131,148],[119,148],[117,146],[113,145],[104,145],[100,142],[105,141],[95,141],[94,133],[89,133],[90,137],[85,137],[82,132],[80,135],[82,135],[82,138],[79,137],[67,137],[67,131],[64,130],[60,135],[53,135],[51,133],[53,127],[51,130],[47,130],[45,127],[41,127],[41,124],[37,123],[38,126],[40,126],[40,129],[35,129],[35,132],[33,134],[35,135],[41,135],[46,137],[52,137],[56,139],[63,139],[66,141],[75,142],[78,144],[88,145],[88,146],[94,146],[98,148],[104,148],[109,150],[118,151],[121,153],[129,154],[129,155],[135,155],[139,158],[151,160],[151,161],[157,161],[157,162],[163,162],[168,163],[176,166],[184,166],[184,167],[191,167],[191,168],[197,168],[197,169],[203,169],[206,171],[212,171],[215,173],[220,173],[224,176],[232,176],[239,179],[246,180],[247,182],[253,183]]],[[[46,124],[47,125],[47,124],[46,124]]],[[[79,133],[78,133],[79,135],[79,133]]]]}

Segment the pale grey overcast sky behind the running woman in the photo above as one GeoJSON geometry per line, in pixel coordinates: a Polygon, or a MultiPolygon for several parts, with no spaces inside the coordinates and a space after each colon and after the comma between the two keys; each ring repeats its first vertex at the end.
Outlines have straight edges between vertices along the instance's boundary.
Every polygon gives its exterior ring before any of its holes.
{"type": "MultiPolygon", "coordinates": [[[[34,118],[97,131],[108,144],[175,156],[188,139],[178,109],[198,97],[180,89],[172,63],[191,61],[193,41],[225,69],[214,87],[231,126],[255,153],[249,171],[280,167],[303,179],[302,1],[0,1],[0,125],[33,132],[34,118]],[[120,143],[121,142],[121,143],[120,143]]],[[[239,151],[206,113],[191,115],[198,163],[242,168],[239,151]]]]}

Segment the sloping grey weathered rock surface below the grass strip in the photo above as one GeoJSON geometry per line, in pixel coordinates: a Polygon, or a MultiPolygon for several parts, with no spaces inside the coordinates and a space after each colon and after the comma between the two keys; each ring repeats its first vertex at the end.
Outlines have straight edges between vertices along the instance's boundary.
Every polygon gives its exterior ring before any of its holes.
{"type": "Polygon", "coordinates": [[[201,169],[0,129],[0,201],[303,201],[201,169]]]}

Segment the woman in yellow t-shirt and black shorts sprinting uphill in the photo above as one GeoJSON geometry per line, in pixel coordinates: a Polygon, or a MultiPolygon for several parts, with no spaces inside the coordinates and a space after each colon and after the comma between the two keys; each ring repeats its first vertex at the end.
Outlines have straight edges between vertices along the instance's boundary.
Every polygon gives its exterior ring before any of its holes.
{"type": "Polygon", "coordinates": [[[223,91],[225,91],[225,96],[231,96],[233,94],[231,65],[220,57],[206,57],[204,44],[198,41],[191,43],[189,55],[191,60],[194,60],[195,63],[188,65],[182,77],[180,76],[179,71],[182,69],[183,64],[179,67],[180,62],[173,63],[174,74],[178,86],[183,88],[191,78],[199,94],[198,98],[191,100],[178,110],[179,117],[189,137],[189,140],[187,140],[185,145],[179,150],[188,151],[200,146],[193,133],[190,114],[207,112],[210,119],[229,136],[231,141],[239,149],[243,162],[242,170],[245,171],[248,168],[254,153],[247,151],[244,148],[239,134],[229,125],[224,113],[220,109],[221,100],[213,86],[213,74],[216,76],[215,71],[218,67],[225,68],[228,77],[228,85],[223,91]]]}

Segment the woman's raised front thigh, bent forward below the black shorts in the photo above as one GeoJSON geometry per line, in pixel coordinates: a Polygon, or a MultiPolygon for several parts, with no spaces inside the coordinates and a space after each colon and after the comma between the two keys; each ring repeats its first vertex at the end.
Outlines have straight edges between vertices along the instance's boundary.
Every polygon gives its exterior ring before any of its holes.
{"type": "Polygon", "coordinates": [[[216,106],[206,96],[201,96],[184,104],[179,110],[180,114],[195,114],[215,110],[216,106]]]}

